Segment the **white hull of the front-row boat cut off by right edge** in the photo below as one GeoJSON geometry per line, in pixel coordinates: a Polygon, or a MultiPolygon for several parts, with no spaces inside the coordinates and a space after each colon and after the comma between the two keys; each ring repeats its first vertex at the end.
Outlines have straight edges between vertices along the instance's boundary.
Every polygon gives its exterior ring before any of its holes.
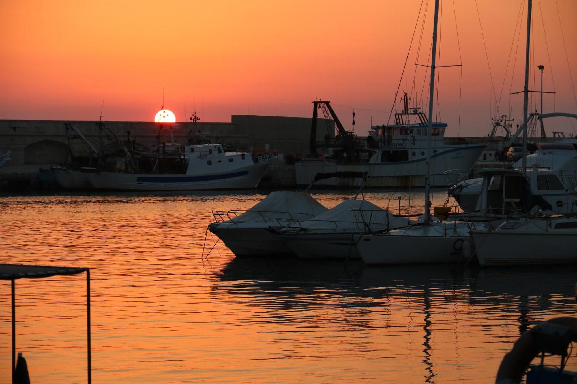
{"type": "Polygon", "coordinates": [[[470,236],[481,265],[577,263],[574,233],[471,231],[470,236]]]}

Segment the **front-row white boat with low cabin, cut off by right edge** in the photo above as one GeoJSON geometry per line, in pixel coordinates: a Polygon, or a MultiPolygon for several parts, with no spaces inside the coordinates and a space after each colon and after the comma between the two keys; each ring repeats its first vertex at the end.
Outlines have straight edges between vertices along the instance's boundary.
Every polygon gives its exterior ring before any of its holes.
{"type": "Polygon", "coordinates": [[[574,216],[522,217],[497,228],[473,229],[470,237],[483,266],[577,262],[574,216]]]}

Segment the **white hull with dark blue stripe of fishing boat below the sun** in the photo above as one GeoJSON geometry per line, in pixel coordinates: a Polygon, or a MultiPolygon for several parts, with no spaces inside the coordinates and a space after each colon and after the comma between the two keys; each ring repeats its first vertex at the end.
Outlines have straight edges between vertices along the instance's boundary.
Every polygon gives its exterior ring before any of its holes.
{"type": "Polygon", "coordinates": [[[88,173],[93,189],[125,191],[187,191],[252,189],[258,186],[269,163],[252,164],[233,171],[205,174],[124,174],[115,172],[88,173]]]}

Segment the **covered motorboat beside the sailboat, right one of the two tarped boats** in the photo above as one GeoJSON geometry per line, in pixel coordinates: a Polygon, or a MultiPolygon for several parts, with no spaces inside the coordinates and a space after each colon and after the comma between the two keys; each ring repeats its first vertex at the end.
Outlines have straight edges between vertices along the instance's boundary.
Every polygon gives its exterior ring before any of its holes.
{"type": "Polygon", "coordinates": [[[364,199],[350,199],[305,221],[280,220],[286,224],[271,228],[277,241],[286,244],[300,258],[360,258],[355,235],[389,231],[414,223],[394,216],[364,199]]]}

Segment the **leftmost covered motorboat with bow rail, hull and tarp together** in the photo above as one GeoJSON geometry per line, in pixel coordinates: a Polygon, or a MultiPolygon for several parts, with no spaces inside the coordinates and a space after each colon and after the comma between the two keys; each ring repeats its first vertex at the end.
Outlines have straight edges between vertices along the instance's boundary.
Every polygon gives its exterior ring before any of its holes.
{"type": "Polygon", "coordinates": [[[269,227],[280,227],[279,220],[311,219],[326,210],[307,193],[275,191],[246,211],[213,211],[215,223],[208,230],[237,256],[291,255],[269,227]]]}

